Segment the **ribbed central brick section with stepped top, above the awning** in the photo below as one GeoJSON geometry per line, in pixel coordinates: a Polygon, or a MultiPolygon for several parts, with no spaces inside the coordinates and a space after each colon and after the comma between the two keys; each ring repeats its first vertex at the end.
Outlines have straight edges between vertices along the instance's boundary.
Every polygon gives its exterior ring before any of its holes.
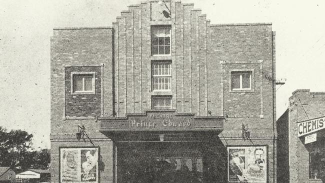
{"type": "MultiPolygon", "coordinates": [[[[210,60],[208,41],[209,20],[194,9],[193,4],[170,2],[171,18],[156,20],[148,2],[129,6],[113,23],[115,110],[118,116],[140,113],[151,108],[151,95],[172,95],[172,108],[177,112],[197,115],[221,115],[220,64],[210,60]],[[150,21],[152,19],[152,21],[150,21]],[[153,20],[154,19],[154,20],[153,20]],[[171,55],[152,56],[151,25],[171,26],[171,55]],[[171,60],[171,92],[151,90],[151,62],[171,60]],[[217,63],[217,64],[215,64],[217,63]],[[210,67],[211,66],[211,67],[210,67]],[[215,75],[218,73],[218,75],[215,75]]],[[[169,4],[169,1],[167,2],[169,4]]]]}

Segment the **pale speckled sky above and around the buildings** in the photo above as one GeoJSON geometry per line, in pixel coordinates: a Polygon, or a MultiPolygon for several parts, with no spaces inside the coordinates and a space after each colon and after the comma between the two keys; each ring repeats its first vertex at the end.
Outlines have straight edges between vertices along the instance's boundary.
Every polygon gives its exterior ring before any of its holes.
{"type": "MultiPolygon", "coordinates": [[[[111,26],[141,0],[0,0],[0,126],[50,148],[50,36],[54,27],[111,26]]],[[[212,24],[271,22],[276,32],[276,114],[298,88],[325,91],[323,0],[182,0],[212,24]]]]}

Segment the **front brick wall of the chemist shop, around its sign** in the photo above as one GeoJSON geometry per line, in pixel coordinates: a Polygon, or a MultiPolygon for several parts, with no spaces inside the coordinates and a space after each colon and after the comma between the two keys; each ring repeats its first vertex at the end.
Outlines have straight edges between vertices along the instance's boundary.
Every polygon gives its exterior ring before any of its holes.
{"type": "Polygon", "coordinates": [[[309,179],[309,144],[304,144],[304,138],[298,137],[297,122],[324,116],[324,106],[325,92],[297,89],[289,97],[288,157],[290,182],[308,182],[309,179]]]}

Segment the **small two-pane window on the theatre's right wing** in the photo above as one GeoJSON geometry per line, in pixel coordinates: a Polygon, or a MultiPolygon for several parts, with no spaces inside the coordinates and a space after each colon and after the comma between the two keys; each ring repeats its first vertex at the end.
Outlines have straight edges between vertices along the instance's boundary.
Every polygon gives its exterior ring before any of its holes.
{"type": "Polygon", "coordinates": [[[231,89],[251,89],[251,71],[232,71],[231,89]]]}

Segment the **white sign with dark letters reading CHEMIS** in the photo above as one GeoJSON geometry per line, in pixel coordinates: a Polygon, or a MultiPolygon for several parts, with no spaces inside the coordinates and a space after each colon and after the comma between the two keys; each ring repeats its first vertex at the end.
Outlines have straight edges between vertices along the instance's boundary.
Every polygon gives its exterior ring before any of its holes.
{"type": "Polygon", "coordinates": [[[325,116],[298,122],[298,136],[303,136],[325,128],[325,116]]]}

